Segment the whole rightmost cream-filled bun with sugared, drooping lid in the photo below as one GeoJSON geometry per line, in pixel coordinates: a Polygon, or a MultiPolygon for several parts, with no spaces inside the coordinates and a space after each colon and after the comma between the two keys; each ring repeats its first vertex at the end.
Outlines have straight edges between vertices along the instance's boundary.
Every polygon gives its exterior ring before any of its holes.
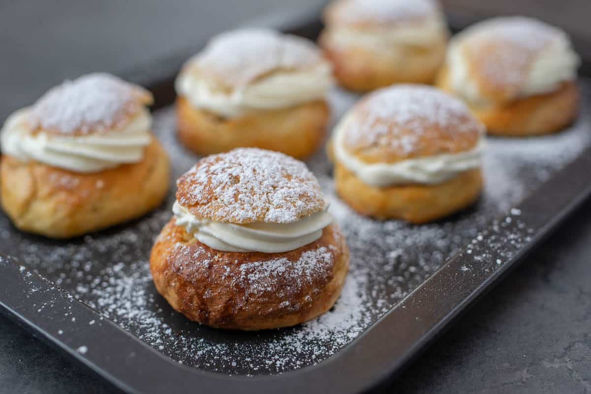
{"type": "Polygon", "coordinates": [[[576,116],[579,63],[561,29],[493,18],[453,38],[437,84],[465,100],[489,133],[544,134],[576,116]]]}

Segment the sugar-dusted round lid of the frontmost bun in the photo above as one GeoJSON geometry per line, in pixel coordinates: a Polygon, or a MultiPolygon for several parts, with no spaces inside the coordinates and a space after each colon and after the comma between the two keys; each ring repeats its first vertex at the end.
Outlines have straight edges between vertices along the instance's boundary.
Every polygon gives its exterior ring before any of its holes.
{"type": "Polygon", "coordinates": [[[190,214],[217,222],[292,223],[326,205],[303,162],[256,148],[204,157],[177,187],[177,201],[190,214]]]}

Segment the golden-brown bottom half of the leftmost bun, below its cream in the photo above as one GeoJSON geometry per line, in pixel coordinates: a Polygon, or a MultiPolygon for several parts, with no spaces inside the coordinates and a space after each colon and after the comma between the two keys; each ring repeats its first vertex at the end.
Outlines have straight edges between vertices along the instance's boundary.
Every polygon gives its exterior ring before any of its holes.
{"type": "Polygon", "coordinates": [[[70,238],[144,215],[164,200],[169,163],[156,139],[139,163],[76,173],[3,155],[1,203],[15,226],[70,238]]]}

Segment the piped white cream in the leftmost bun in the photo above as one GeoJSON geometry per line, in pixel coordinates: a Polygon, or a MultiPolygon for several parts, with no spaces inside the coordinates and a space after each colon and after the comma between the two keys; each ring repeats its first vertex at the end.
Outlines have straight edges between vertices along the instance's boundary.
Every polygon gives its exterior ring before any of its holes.
{"type": "Polygon", "coordinates": [[[0,132],[2,153],[24,162],[36,160],[75,172],[98,172],[124,163],[137,163],[152,140],[152,119],[146,109],[120,130],[85,136],[43,130],[32,133],[27,116],[25,108],[7,119],[0,132]]]}

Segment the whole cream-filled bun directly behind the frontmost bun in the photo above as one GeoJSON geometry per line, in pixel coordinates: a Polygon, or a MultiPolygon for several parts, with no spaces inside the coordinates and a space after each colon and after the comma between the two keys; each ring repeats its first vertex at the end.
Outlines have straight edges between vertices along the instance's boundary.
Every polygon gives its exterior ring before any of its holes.
{"type": "Polygon", "coordinates": [[[326,133],[332,86],[313,42],[266,29],[226,32],[178,75],[178,136],[203,155],[260,147],[307,156],[326,133]]]}

